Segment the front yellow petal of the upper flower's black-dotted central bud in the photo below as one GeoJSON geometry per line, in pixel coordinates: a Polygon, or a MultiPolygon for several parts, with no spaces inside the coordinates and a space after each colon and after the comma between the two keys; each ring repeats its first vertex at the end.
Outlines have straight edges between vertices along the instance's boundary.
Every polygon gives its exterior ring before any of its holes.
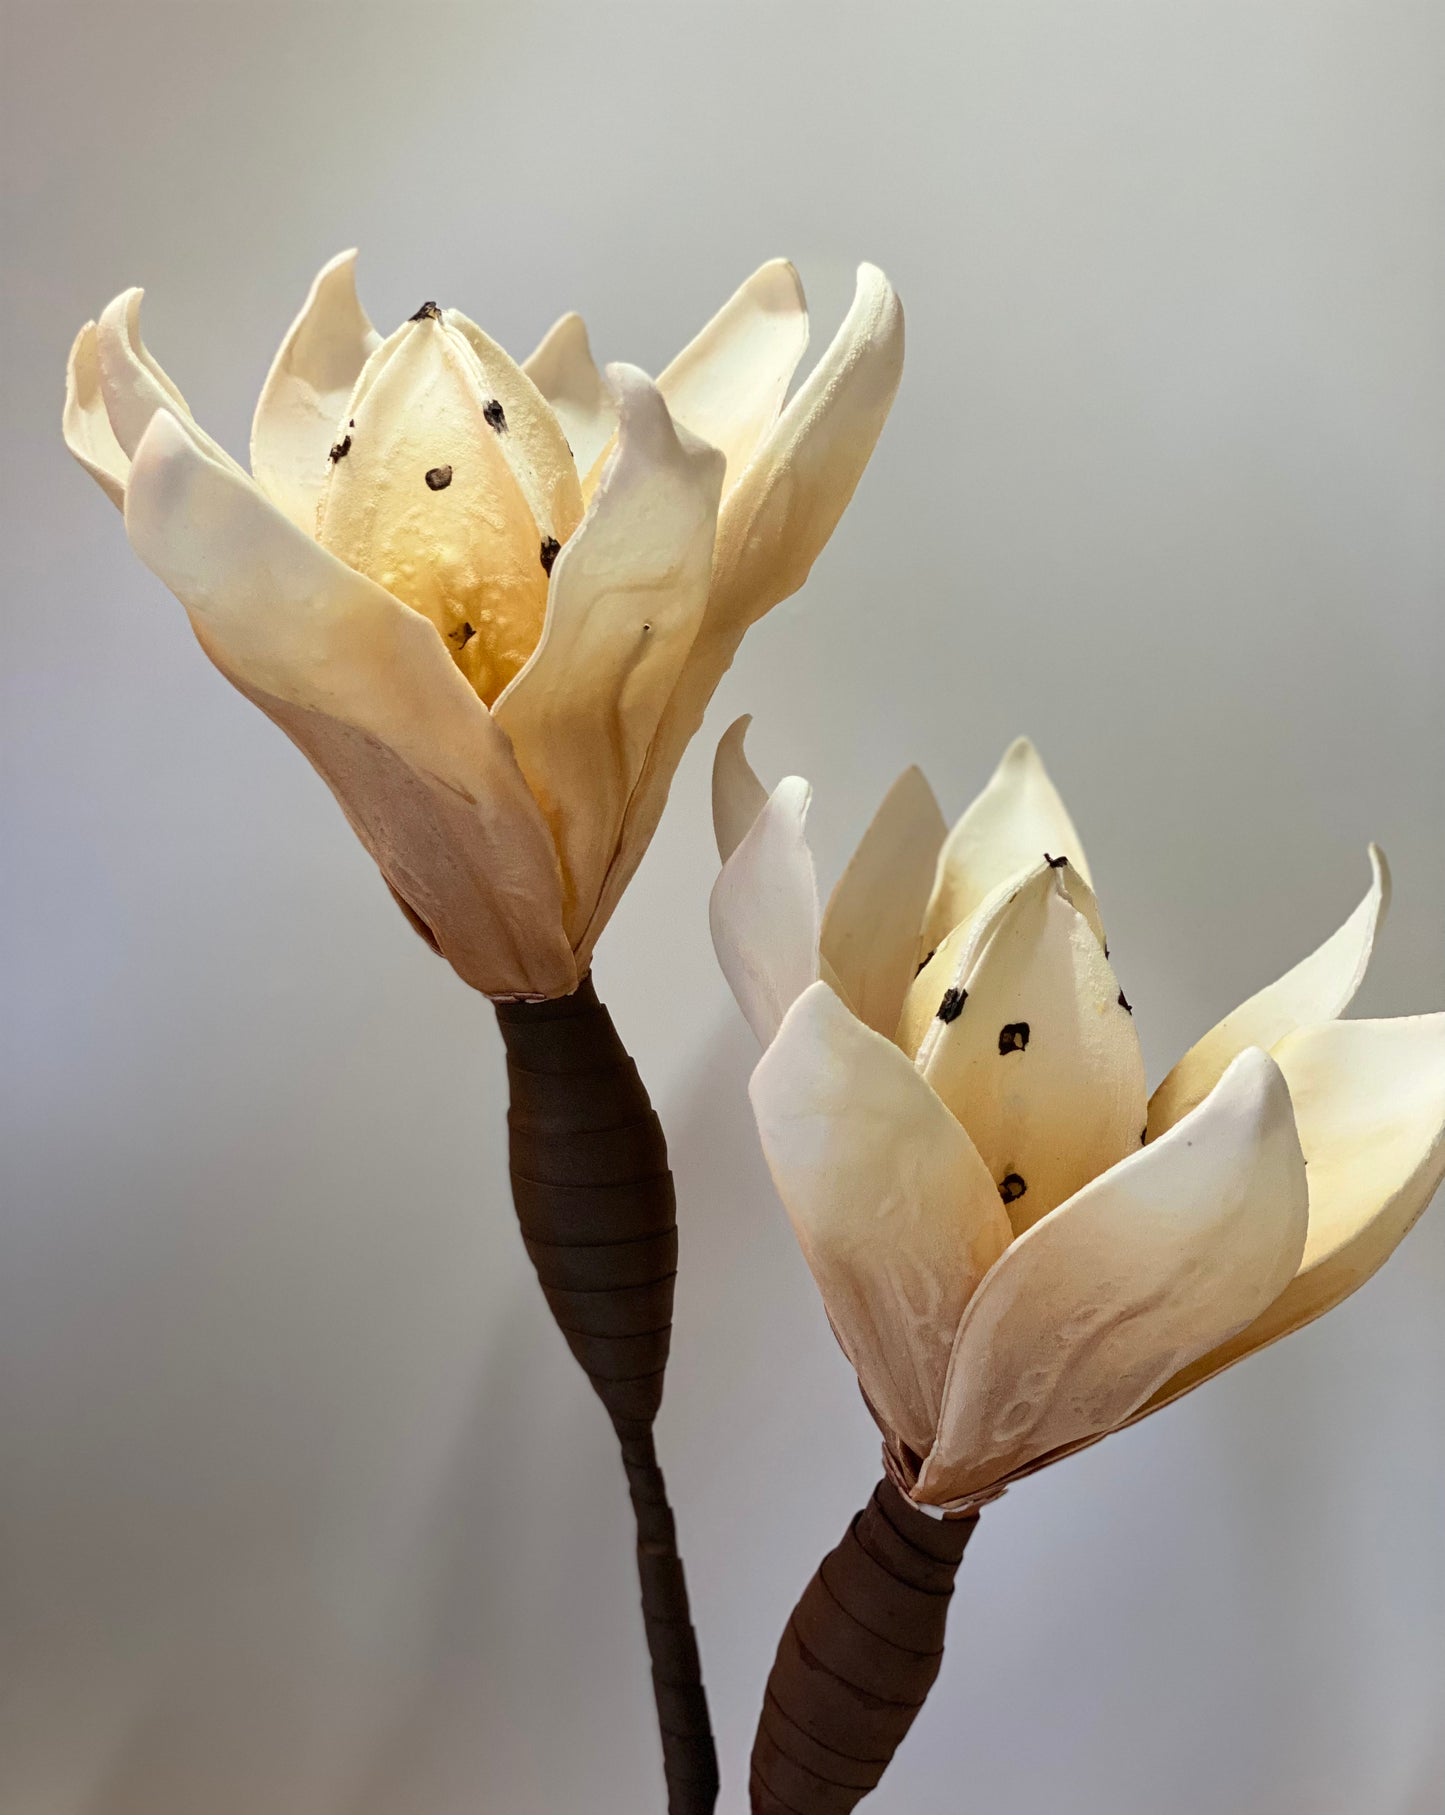
{"type": "Polygon", "coordinates": [[[467,338],[427,305],[358,379],[318,526],[323,546],[436,624],[488,706],[541,637],[559,548],[537,528],[508,434],[467,338]]]}

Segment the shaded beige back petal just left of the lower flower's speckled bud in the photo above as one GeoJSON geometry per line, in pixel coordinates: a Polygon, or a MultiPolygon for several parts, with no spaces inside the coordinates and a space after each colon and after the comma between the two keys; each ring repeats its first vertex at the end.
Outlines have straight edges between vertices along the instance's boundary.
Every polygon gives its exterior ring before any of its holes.
{"type": "Polygon", "coordinates": [[[822,955],[859,1020],[893,1038],[948,828],[922,770],[893,782],[822,917],[822,955]]]}

